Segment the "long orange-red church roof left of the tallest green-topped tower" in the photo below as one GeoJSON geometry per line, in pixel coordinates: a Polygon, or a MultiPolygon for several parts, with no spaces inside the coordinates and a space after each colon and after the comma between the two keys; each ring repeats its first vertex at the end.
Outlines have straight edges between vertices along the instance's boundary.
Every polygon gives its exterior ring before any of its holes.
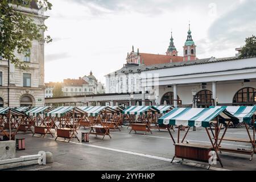
{"type": "Polygon", "coordinates": [[[167,56],[167,55],[155,55],[152,53],[139,53],[141,55],[141,63],[144,60],[145,65],[163,64],[163,63],[176,63],[182,62],[182,56],[167,56]]]}

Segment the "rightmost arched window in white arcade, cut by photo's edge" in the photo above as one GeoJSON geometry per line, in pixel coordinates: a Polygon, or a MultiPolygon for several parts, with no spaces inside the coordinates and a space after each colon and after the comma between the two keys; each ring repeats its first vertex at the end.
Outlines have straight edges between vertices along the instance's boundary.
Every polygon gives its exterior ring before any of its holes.
{"type": "Polygon", "coordinates": [[[255,105],[256,104],[256,89],[246,87],[235,94],[233,104],[239,105],[255,105]]]}

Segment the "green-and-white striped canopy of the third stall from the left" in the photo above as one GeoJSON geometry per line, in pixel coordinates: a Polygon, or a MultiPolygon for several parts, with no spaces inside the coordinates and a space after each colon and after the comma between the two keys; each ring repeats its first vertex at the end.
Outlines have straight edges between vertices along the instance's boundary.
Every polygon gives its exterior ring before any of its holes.
{"type": "Polygon", "coordinates": [[[61,106],[46,113],[47,117],[63,117],[67,113],[85,114],[85,111],[73,106],[61,106]]]}

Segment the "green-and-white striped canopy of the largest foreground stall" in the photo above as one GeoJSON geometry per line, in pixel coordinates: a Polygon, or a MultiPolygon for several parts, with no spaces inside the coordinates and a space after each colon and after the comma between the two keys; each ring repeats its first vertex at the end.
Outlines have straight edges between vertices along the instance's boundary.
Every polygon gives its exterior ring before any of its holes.
{"type": "Polygon", "coordinates": [[[220,115],[220,119],[233,117],[225,108],[175,108],[158,119],[159,125],[183,125],[209,127],[209,123],[220,115]]]}

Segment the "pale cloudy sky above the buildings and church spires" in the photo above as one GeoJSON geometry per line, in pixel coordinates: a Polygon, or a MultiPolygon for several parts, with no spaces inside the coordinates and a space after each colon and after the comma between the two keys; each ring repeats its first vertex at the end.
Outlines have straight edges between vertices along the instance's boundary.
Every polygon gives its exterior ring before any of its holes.
{"type": "Polygon", "coordinates": [[[52,43],[45,46],[45,81],[98,81],[123,67],[132,46],[165,54],[174,44],[183,55],[188,24],[197,57],[230,57],[256,33],[256,0],[51,0],[46,20],[52,43]]]}

